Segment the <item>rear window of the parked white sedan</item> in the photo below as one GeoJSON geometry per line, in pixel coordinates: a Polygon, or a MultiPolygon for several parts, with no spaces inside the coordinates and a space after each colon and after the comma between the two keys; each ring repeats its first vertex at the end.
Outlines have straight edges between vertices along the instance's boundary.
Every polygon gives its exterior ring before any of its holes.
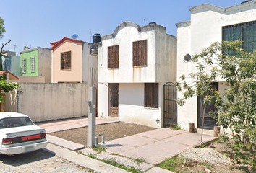
{"type": "Polygon", "coordinates": [[[6,117],[0,120],[0,128],[14,128],[25,125],[34,125],[28,117],[6,117]]]}

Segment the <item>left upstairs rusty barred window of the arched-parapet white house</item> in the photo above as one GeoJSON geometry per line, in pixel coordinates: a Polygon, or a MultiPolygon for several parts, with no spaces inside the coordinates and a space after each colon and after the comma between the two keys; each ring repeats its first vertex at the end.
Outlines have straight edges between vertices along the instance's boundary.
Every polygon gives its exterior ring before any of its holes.
{"type": "Polygon", "coordinates": [[[119,68],[119,45],[108,47],[108,68],[119,68]]]}

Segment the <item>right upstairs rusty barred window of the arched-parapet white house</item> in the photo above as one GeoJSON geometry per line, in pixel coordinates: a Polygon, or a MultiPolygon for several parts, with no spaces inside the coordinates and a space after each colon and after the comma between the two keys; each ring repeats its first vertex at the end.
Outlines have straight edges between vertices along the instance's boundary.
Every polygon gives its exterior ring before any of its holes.
{"type": "Polygon", "coordinates": [[[133,66],[147,66],[147,40],[133,42],[133,66]]]}

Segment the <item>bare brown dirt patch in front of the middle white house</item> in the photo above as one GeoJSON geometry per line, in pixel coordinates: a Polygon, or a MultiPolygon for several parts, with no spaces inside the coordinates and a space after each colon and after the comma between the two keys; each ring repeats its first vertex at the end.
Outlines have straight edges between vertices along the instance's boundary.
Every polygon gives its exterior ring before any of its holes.
{"type": "MultiPolygon", "coordinates": [[[[137,133],[142,133],[154,129],[155,128],[150,128],[145,125],[137,125],[132,123],[108,123],[104,125],[96,125],[96,136],[98,136],[99,134],[104,134],[105,141],[110,141],[116,138],[132,136],[137,133]]],[[[52,136],[64,138],[68,141],[73,141],[75,143],[80,143],[84,146],[87,146],[87,127],[64,130],[50,134],[52,136]]],[[[101,137],[98,137],[98,142],[101,143],[101,137]]]]}

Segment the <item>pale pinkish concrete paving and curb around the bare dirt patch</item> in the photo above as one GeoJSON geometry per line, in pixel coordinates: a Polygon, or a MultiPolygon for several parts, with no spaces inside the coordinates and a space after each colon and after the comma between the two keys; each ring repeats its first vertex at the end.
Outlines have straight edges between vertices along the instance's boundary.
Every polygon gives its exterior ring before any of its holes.
{"type": "MultiPolygon", "coordinates": [[[[96,124],[116,123],[119,121],[108,120],[96,117],[96,124]]],[[[73,120],[58,120],[46,123],[37,123],[40,127],[46,129],[46,133],[52,133],[60,130],[69,130],[73,128],[82,128],[87,126],[87,118],[75,118],[73,120]]],[[[176,156],[182,151],[194,148],[200,145],[200,133],[189,133],[182,130],[170,130],[169,128],[160,128],[139,133],[134,136],[127,136],[112,141],[106,141],[101,146],[106,146],[106,152],[97,154],[93,149],[85,148],[78,143],[67,141],[47,134],[49,144],[46,147],[48,151],[54,152],[57,156],[88,167],[96,172],[125,172],[123,169],[104,164],[101,161],[91,159],[82,154],[93,154],[98,159],[115,159],[127,166],[140,167],[143,172],[158,173],[169,172],[168,170],[155,167],[164,159],[176,156]],[[53,145],[54,144],[54,145],[53,145]],[[61,146],[61,147],[59,147],[61,146]],[[66,149],[69,148],[69,149],[66,149]],[[85,149],[81,149],[85,148],[85,149]],[[82,154],[75,151],[81,149],[82,154]],[[145,160],[142,164],[135,163],[136,159],[145,160]]],[[[203,135],[203,142],[207,143],[216,139],[213,136],[203,135]]],[[[170,173],[170,172],[169,172],[170,173]]]]}

